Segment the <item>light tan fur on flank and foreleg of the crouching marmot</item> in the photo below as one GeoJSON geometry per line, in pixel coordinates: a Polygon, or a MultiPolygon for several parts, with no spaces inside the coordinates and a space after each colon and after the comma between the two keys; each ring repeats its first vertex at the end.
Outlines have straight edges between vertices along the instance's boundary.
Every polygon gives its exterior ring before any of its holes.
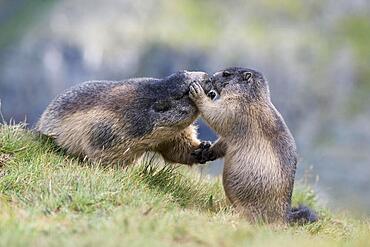
{"type": "Polygon", "coordinates": [[[54,133],[49,133],[49,135],[58,136],[57,144],[66,148],[69,153],[78,156],[85,155],[92,161],[102,163],[119,161],[121,165],[127,166],[134,164],[146,151],[159,152],[169,162],[194,163],[191,152],[197,149],[200,144],[194,125],[190,125],[180,132],[169,132],[168,128],[163,128],[162,131],[161,128],[158,128],[154,134],[137,139],[125,138],[124,133],[121,133],[119,145],[109,149],[97,149],[91,146],[90,133],[87,133],[91,124],[97,121],[109,121],[113,130],[119,131],[122,128],[122,120],[117,119],[115,113],[93,108],[64,117],[61,119],[62,124],[55,124],[58,127],[54,128],[54,133]],[[60,133],[63,134],[60,135],[60,133]]]}

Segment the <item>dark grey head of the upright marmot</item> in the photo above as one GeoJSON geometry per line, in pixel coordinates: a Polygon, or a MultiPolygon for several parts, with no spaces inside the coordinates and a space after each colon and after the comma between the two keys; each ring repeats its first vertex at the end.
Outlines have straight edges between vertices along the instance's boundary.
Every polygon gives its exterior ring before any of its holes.
{"type": "Polygon", "coordinates": [[[269,87],[263,75],[258,71],[232,67],[213,74],[212,86],[218,94],[238,94],[248,102],[268,100],[269,87]]]}

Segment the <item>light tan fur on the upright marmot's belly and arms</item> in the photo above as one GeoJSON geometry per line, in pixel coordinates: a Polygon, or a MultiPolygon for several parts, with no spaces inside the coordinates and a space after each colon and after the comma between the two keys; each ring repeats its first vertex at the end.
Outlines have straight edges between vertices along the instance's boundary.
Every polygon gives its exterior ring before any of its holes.
{"type": "Polygon", "coordinates": [[[226,88],[215,101],[199,85],[190,90],[202,118],[220,136],[210,151],[214,159],[225,158],[227,198],[252,222],[285,222],[294,174],[292,178],[282,169],[279,151],[271,143],[275,133],[266,129],[275,125],[275,107],[269,100],[246,102],[242,95],[226,88]]]}

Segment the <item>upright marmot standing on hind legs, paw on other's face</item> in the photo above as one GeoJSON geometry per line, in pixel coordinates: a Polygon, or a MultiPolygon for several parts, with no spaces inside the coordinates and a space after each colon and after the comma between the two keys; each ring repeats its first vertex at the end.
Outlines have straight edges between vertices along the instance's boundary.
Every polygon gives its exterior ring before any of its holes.
{"type": "Polygon", "coordinates": [[[297,163],[296,145],[270,100],[268,84],[254,70],[230,68],[215,73],[212,101],[194,83],[190,98],[220,139],[202,159],[225,156],[223,184],[233,205],[253,222],[314,221],[306,207],[291,209],[297,163]]]}

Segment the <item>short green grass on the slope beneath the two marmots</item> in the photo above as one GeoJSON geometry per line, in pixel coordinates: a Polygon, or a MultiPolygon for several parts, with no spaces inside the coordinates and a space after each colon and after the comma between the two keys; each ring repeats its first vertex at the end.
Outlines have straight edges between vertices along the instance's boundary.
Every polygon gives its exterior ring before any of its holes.
{"type": "Polygon", "coordinates": [[[84,163],[22,126],[0,125],[0,246],[366,246],[370,224],[316,206],[305,226],[251,225],[220,179],[148,156],[128,169],[84,163]]]}

